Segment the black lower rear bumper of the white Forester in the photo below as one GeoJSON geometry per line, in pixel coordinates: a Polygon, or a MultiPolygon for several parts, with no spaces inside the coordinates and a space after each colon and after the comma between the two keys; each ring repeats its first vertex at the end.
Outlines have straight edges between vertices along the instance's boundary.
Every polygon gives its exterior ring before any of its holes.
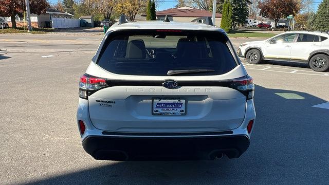
{"type": "Polygon", "coordinates": [[[239,158],[247,135],[232,136],[87,136],[84,150],[100,160],[201,160],[225,154],[239,158]]]}

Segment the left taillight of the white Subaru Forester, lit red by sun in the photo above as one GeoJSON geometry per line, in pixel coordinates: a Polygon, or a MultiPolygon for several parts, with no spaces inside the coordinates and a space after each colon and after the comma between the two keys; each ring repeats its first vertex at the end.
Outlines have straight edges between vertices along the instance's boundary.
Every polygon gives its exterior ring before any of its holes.
{"type": "Polygon", "coordinates": [[[79,97],[83,99],[88,99],[88,96],[95,93],[97,90],[108,86],[104,79],[97,77],[88,77],[83,75],[80,77],[79,83],[79,97]]]}

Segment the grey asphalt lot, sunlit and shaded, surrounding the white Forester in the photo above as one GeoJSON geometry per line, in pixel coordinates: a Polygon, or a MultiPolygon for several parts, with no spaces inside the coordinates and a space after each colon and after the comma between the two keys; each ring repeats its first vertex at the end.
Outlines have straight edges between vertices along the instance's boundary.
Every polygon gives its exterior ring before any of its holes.
{"type": "MultiPolygon", "coordinates": [[[[75,119],[79,77],[101,38],[0,35],[1,184],[328,183],[329,72],[277,61],[243,61],[254,78],[257,120],[239,159],[95,160],[75,119]]],[[[251,40],[231,39],[235,47],[251,40]]]]}

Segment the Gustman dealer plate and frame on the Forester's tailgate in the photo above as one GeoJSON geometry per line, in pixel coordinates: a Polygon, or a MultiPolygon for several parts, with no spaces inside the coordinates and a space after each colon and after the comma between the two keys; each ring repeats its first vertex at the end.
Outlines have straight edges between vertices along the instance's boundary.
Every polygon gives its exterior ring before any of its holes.
{"type": "Polygon", "coordinates": [[[154,116],[185,116],[186,115],[186,99],[184,98],[152,98],[152,115],[154,116]],[[162,101],[162,102],[161,102],[162,101]],[[165,106],[161,106],[165,105],[165,106]],[[158,106],[157,106],[158,105],[158,106]],[[179,106],[181,105],[181,106],[179,106]],[[164,110],[176,109],[176,110],[164,110]]]}

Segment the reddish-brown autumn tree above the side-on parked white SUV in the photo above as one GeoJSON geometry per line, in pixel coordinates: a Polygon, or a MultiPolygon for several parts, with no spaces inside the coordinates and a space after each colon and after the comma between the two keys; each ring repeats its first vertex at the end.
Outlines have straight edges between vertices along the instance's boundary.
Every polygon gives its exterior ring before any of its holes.
{"type": "Polygon", "coordinates": [[[300,11],[299,0],[264,0],[259,2],[260,15],[275,21],[290,14],[296,15],[300,11]]]}

